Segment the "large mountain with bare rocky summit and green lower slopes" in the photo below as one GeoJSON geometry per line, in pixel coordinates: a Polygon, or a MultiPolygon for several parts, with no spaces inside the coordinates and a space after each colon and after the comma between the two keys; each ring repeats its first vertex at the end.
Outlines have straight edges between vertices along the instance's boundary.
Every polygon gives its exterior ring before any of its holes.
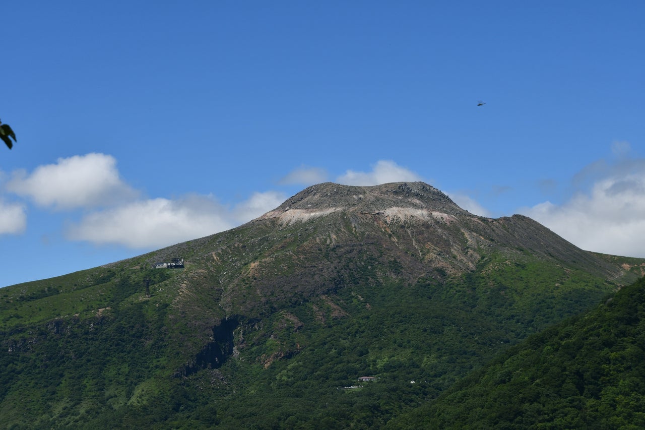
{"type": "Polygon", "coordinates": [[[425,183],[323,183],[226,232],[1,289],[0,416],[377,428],[643,267],[425,183]]]}

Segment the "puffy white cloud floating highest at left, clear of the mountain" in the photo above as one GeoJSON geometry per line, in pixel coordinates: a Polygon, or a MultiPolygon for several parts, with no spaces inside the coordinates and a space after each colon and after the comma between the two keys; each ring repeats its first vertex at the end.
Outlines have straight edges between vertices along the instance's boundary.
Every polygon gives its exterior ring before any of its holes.
{"type": "Polygon", "coordinates": [[[6,189],[57,209],[110,205],[136,194],[119,178],[114,157],[96,153],[59,158],[56,164],[39,166],[32,174],[19,170],[6,189]]]}

